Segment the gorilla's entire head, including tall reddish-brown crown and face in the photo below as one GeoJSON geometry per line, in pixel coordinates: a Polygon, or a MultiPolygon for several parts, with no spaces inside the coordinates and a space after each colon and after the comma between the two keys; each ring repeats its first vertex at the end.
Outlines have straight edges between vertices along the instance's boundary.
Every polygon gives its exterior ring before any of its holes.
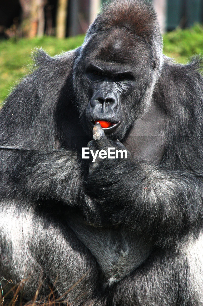
{"type": "Polygon", "coordinates": [[[150,4],[120,2],[107,4],[89,28],[73,84],[86,132],[91,135],[95,121],[108,121],[105,133],[122,140],[150,101],[162,66],[162,37],[150,4]]]}

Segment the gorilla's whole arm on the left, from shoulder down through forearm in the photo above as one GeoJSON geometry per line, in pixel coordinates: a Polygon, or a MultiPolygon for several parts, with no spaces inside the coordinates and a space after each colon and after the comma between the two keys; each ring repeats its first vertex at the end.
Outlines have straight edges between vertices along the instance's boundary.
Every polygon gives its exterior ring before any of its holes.
{"type": "Polygon", "coordinates": [[[40,51],[38,69],[17,86],[0,112],[0,144],[14,148],[0,150],[1,192],[8,197],[23,192],[34,199],[73,204],[82,196],[77,153],[54,149],[55,139],[62,134],[61,113],[68,118],[71,112],[67,91],[75,53],[50,58],[40,51]],[[67,109],[60,111],[64,99],[67,109]]]}

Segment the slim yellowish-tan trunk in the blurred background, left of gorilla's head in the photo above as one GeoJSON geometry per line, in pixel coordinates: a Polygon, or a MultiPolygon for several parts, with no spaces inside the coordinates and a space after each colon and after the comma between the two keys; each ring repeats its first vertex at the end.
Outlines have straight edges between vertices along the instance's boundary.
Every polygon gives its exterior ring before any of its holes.
{"type": "Polygon", "coordinates": [[[58,0],[56,13],[56,37],[64,38],[66,36],[66,17],[68,0],[58,0]]]}

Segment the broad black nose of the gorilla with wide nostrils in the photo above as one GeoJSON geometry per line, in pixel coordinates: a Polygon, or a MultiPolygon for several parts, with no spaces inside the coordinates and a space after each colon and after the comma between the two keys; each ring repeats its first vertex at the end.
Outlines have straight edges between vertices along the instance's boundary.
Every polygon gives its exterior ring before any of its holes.
{"type": "Polygon", "coordinates": [[[94,108],[96,106],[101,105],[102,109],[105,108],[113,108],[116,109],[118,107],[118,98],[113,92],[97,92],[90,101],[91,106],[94,108]]]}

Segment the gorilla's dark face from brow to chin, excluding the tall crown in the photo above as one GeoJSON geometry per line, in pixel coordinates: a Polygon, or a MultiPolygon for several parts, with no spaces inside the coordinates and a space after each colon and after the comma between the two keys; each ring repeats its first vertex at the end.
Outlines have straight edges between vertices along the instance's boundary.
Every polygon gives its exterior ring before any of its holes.
{"type": "Polygon", "coordinates": [[[126,28],[96,33],[80,50],[74,89],[88,135],[96,121],[112,139],[122,140],[151,98],[156,63],[150,45],[126,28]]]}

